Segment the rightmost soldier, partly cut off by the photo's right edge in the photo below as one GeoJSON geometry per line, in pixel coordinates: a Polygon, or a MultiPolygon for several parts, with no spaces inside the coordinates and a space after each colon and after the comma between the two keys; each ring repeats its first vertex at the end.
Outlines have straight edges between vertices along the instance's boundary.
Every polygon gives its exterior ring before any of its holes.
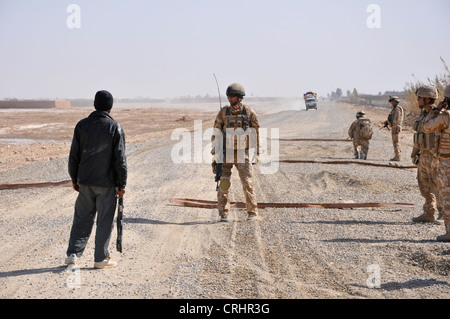
{"type": "Polygon", "coordinates": [[[450,85],[445,88],[444,101],[439,103],[441,110],[435,118],[428,119],[423,125],[425,133],[436,133],[436,145],[433,148],[432,169],[435,174],[436,195],[445,225],[445,234],[436,240],[450,242],[450,85]]]}

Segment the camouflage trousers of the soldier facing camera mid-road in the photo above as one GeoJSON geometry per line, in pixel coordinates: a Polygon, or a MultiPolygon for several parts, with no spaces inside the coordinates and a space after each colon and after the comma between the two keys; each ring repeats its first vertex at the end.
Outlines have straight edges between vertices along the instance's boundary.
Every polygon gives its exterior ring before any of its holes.
{"type": "Polygon", "coordinates": [[[229,188],[231,186],[231,170],[236,167],[242,183],[248,214],[257,215],[258,203],[256,201],[255,190],[252,183],[253,165],[250,163],[248,156],[245,156],[244,163],[223,163],[222,176],[220,177],[219,190],[217,192],[217,204],[219,215],[227,217],[230,213],[229,188]]]}

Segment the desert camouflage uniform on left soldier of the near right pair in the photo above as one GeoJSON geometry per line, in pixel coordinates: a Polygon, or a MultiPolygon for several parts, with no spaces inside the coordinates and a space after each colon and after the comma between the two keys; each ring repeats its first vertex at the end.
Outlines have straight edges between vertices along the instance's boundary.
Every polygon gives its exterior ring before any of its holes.
{"type": "Polygon", "coordinates": [[[422,110],[419,119],[414,124],[414,147],[411,153],[411,159],[416,162],[416,156],[419,157],[417,164],[417,181],[420,194],[425,199],[423,205],[424,214],[413,219],[413,221],[433,221],[438,212],[436,205],[436,185],[433,179],[431,163],[433,161],[432,149],[435,143],[434,133],[424,133],[424,123],[437,116],[439,112],[433,105],[429,112],[422,110]],[[423,217],[423,218],[422,218],[423,217]]]}

